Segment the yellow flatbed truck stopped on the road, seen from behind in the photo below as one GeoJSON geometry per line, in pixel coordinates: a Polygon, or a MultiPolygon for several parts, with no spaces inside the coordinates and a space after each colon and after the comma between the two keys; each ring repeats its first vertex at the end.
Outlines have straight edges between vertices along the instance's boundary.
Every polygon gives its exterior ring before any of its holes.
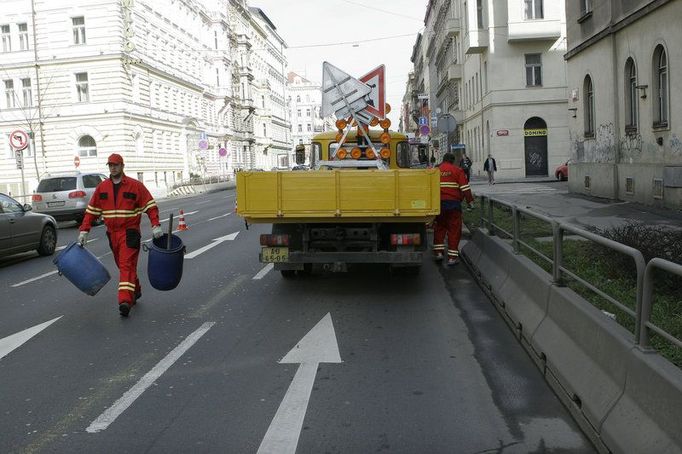
{"type": "Polygon", "coordinates": [[[261,262],[287,278],[315,264],[345,271],[347,264],[385,263],[419,272],[426,224],[440,212],[440,173],[414,168],[404,134],[366,132],[370,144],[355,130],[345,138],[316,135],[313,170],[237,173],[239,215],[247,224],[272,224],[260,237],[261,262]]]}

